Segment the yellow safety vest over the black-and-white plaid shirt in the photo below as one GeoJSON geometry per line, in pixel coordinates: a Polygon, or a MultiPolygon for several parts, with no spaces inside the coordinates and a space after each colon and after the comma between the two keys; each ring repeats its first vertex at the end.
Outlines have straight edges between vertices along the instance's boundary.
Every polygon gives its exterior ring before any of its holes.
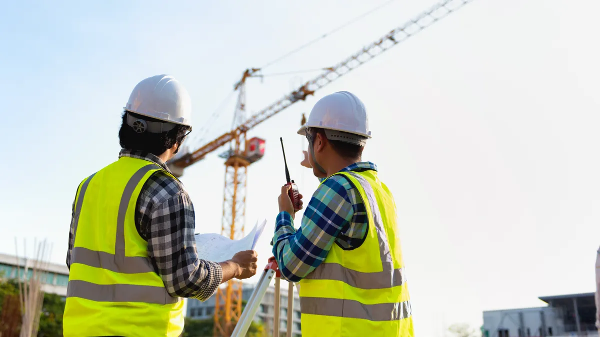
{"type": "Polygon", "coordinates": [[[121,157],[77,189],[65,337],[181,334],[184,302],[167,293],[134,221],[140,190],[158,170],[121,157]]]}

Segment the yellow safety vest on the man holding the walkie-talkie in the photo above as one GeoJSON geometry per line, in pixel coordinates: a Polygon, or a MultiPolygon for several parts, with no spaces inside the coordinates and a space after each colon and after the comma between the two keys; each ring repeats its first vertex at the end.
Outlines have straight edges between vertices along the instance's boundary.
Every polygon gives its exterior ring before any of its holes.
{"type": "Polygon", "coordinates": [[[340,172],[355,186],[368,215],[356,249],[333,245],[299,283],[302,336],[413,336],[396,207],[377,172],[340,172]]]}

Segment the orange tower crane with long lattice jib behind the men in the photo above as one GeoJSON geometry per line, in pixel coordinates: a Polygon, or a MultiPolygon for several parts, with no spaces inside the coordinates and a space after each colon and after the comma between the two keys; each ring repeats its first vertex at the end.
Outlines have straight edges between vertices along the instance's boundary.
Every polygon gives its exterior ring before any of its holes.
{"type": "MultiPolygon", "coordinates": [[[[428,10],[385,35],[362,47],[356,53],[333,67],[325,68],[319,76],[304,83],[268,107],[249,118],[245,118],[245,83],[250,77],[260,76],[260,68],[248,68],[239,82],[235,84],[238,91],[232,130],[227,131],[214,140],[194,151],[182,153],[169,161],[168,166],[176,176],[182,176],[185,167],[191,166],[206,155],[229,143],[229,150],[220,155],[225,159],[225,186],[223,197],[223,218],[221,234],[236,239],[244,231],[245,192],[247,169],[250,164],[260,160],[265,151],[265,142],[254,137],[247,140],[247,133],[252,128],[277,115],[298,101],[304,101],[309,95],[339,79],[341,76],[358,68],[398,43],[412,37],[443,17],[448,16],[473,0],[443,0],[428,10]]],[[[238,280],[230,280],[226,288],[218,288],[215,296],[215,336],[230,336],[233,327],[242,311],[242,284],[238,280]]]]}

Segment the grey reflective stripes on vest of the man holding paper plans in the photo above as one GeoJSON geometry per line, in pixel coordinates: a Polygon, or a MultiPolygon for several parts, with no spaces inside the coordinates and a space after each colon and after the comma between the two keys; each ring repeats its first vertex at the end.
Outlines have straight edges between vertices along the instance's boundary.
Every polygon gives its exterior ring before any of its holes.
{"type": "MultiPolygon", "coordinates": [[[[127,257],[125,256],[125,215],[127,206],[133,195],[133,191],[142,178],[151,170],[159,167],[155,164],[149,164],[131,176],[123,191],[121,201],[119,202],[119,211],[116,223],[115,254],[103,251],[92,251],[84,247],[74,247],[71,253],[71,263],[80,263],[90,267],[110,270],[117,273],[154,273],[154,267],[146,257],[127,257]]],[[[89,181],[95,173],[83,182],[79,197],[77,198],[74,236],[77,235],[77,225],[79,224],[79,214],[83,205],[86,189],[89,181]]],[[[73,242],[75,241],[73,237],[73,242]]],[[[155,304],[172,304],[178,302],[179,297],[172,297],[164,287],[154,287],[150,285],[135,284],[95,284],[82,280],[70,280],[67,285],[67,297],[79,297],[82,299],[94,300],[96,302],[143,302],[155,304]]]]}

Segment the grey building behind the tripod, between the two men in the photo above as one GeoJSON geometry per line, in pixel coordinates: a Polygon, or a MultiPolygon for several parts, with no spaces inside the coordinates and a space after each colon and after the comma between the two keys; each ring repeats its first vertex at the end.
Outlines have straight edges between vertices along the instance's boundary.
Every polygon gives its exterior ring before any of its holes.
{"type": "MultiPolygon", "coordinates": [[[[282,282],[283,283],[283,282],[282,282]]],[[[252,292],[254,291],[253,284],[244,284],[242,288],[242,299],[248,300],[252,292]]],[[[280,301],[280,331],[286,332],[287,330],[287,287],[281,287],[282,290],[280,293],[281,301],[280,301]]],[[[301,336],[301,326],[300,326],[300,297],[298,293],[294,291],[294,312],[293,312],[293,324],[292,334],[293,337],[301,336]]],[[[268,331],[272,331],[274,317],[273,314],[275,312],[275,288],[269,287],[265,293],[265,297],[263,297],[262,302],[260,303],[260,308],[256,313],[256,317],[254,320],[260,323],[265,324],[265,329],[268,331]]],[[[200,302],[197,299],[188,299],[187,303],[187,316],[191,318],[197,319],[206,319],[212,318],[215,314],[215,296],[212,296],[206,302],[200,302]]]]}

